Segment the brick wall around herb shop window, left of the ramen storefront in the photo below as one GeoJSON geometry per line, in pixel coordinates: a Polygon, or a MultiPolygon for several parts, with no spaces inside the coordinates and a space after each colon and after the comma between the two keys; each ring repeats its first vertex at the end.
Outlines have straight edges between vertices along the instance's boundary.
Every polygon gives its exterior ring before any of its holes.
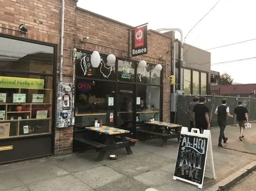
{"type": "MultiPolygon", "coordinates": [[[[74,35],[76,2],[77,0],[65,0],[64,75],[72,73],[70,46],[72,34],[74,35]]],[[[0,33],[58,44],[59,70],[61,0],[0,0],[0,5],[0,33]],[[20,32],[20,24],[25,24],[28,29],[27,34],[20,32]]],[[[68,76],[63,79],[65,82],[71,80],[72,78],[68,76]]],[[[61,129],[61,134],[60,129],[55,131],[55,153],[72,152],[73,127],[61,129]]]]}

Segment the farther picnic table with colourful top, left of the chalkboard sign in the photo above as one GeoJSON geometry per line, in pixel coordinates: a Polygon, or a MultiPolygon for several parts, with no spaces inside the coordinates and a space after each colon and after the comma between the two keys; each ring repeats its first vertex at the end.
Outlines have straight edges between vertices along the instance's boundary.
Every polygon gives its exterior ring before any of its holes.
{"type": "Polygon", "coordinates": [[[139,129],[137,131],[144,133],[144,134],[151,134],[151,135],[156,135],[156,136],[161,137],[162,138],[161,146],[164,146],[168,139],[177,138],[178,141],[180,139],[179,127],[182,127],[182,125],[167,123],[167,122],[162,122],[162,121],[152,121],[152,122],[145,121],[144,123],[148,124],[148,126],[154,125],[156,127],[155,131],[151,131],[148,129],[146,129],[146,130],[139,129]],[[166,132],[161,133],[160,130],[165,130],[166,132]]]}

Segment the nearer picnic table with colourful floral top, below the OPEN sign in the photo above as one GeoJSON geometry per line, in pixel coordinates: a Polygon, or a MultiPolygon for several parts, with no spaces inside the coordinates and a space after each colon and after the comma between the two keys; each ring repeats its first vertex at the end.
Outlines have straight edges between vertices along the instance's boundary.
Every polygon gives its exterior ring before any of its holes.
{"type": "Polygon", "coordinates": [[[114,150],[118,148],[125,148],[128,154],[132,154],[130,146],[134,146],[138,140],[126,137],[130,134],[128,130],[119,129],[115,127],[85,127],[86,130],[101,134],[105,137],[104,144],[90,140],[89,137],[86,138],[75,138],[75,141],[80,141],[82,143],[94,146],[96,152],[99,153],[97,161],[101,161],[104,155],[109,150],[114,150]],[[119,140],[119,141],[117,141],[119,140]]]}

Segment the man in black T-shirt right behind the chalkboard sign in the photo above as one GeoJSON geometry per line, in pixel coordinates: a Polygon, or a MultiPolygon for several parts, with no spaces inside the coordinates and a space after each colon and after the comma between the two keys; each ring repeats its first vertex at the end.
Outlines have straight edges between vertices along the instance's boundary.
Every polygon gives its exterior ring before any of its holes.
{"type": "Polygon", "coordinates": [[[205,105],[206,98],[200,97],[199,103],[196,104],[193,108],[194,111],[194,121],[195,127],[203,131],[204,129],[210,129],[210,121],[209,121],[209,108],[205,105]]]}

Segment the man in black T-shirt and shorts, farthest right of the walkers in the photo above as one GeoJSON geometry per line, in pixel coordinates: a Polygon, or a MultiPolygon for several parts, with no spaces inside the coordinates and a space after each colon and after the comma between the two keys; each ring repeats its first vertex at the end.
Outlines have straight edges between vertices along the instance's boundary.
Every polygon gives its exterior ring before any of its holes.
{"type": "Polygon", "coordinates": [[[247,122],[249,123],[248,120],[248,110],[247,108],[242,106],[242,101],[238,101],[238,107],[235,108],[236,118],[240,127],[240,136],[239,139],[243,140],[244,139],[244,124],[247,122]]]}

